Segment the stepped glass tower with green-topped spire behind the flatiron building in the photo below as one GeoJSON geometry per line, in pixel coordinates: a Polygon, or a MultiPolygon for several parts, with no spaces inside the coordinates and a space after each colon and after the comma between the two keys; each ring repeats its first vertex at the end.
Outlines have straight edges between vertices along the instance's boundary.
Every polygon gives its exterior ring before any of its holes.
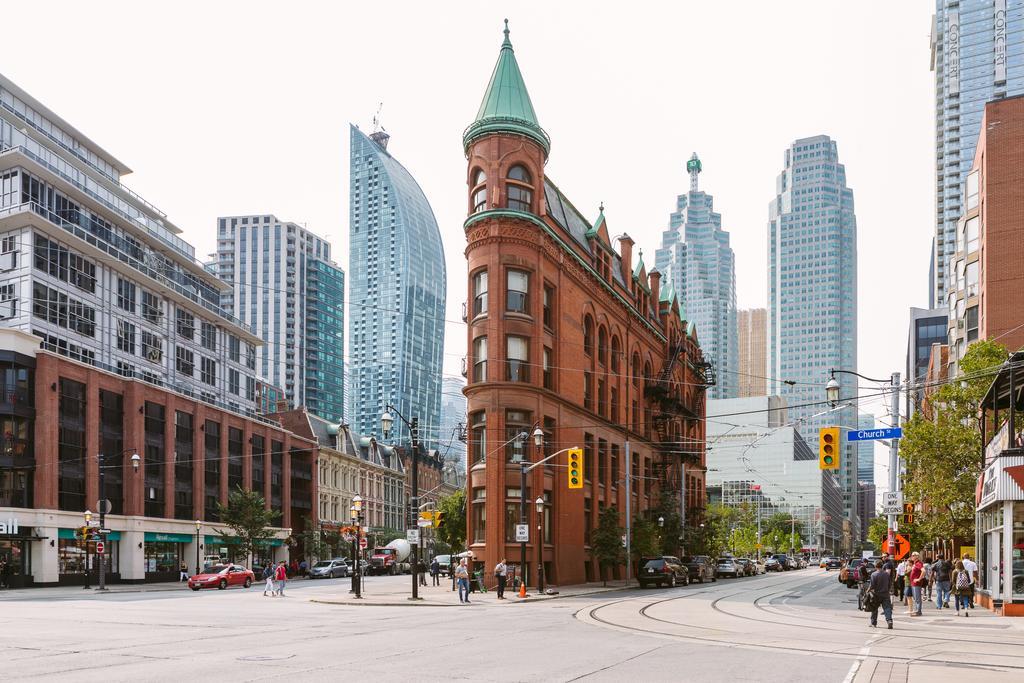
{"type": "MultiPolygon", "coordinates": [[[[702,166],[696,154],[686,162],[690,189],[676,198],[654,267],[679,296],[683,317],[696,324],[705,358],[715,364],[716,384],[710,398],[738,393],[736,269],[729,233],[714,211],[714,198],[698,188],[702,166]]],[[[762,373],[763,374],[763,373],[762,373]]]]}

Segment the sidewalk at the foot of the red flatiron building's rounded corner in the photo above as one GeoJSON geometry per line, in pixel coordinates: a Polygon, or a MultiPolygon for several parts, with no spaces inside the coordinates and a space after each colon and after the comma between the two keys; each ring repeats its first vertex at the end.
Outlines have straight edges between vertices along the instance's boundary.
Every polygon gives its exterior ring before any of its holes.
{"type": "MultiPolygon", "coordinates": [[[[429,582],[428,582],[429,583],[429,582]]],[[[636,588],[636,583],[633,583],[636,588]]],[[[346,587],[347,588],[347,587],[346,587]]],[[[486,593],[472,593],[469,596],[469,606],[476,604],[515,604],[523,602],[540,602],[542,600],[556,600],[558,598],[574,598],[582,595],[593,595],[595,593],[608,593],[611,591],[622,591],[626,589],[624,581],[609,581],[607,585],[601,582],[592,584],[578,584],[575,586],[552,587],[554,594],[542,595],[537,592],[537,588],[527,591],[526,598],[520,598],[519,594],[511,589],[505,591],[505,599],[499,600],[494,590],[487,589],[486,593]]],[[[452,590],[452,582],[442,581],[440,586],[421,586],[419,590],[420,599],[411,598],[411,587],[402,585],[400,587],[371,586],[370,591],[364,592],[361,598],[356,598],[354,594],[347,590],[344,592],[331,593],[329,595],[311,598],[310,602],[318,602],[329,605],[352,605],[360,607],[462,607],[459,602],[459,592],[452,590]]]]}

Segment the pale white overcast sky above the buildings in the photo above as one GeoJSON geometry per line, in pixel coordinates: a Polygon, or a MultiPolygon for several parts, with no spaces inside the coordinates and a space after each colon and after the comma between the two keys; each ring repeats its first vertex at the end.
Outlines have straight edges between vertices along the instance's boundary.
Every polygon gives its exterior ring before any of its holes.
{"type": "MultiPolygon", "coordinates": [[[[552,140],[547,174],[585,214],[603,202],[611,233],[629,232],[650,262],[696,152],[731,234],[741,308],[766,305],[768,204],[784,150],[798,137],[837,140],[858,224],[858,370],[888,378],[905,366],[908,307],[928,304],[933,8],[40,0],[4,8],[0,72],[134,169],[124,184],[200,257],[214,249],[217,216],[272,213],[329,239],[348,270],[347,128],[370,130],[381,108],[389,151],[440,225],[444,372],[458,376],[462,132],[508,17],[552,140]]],[[[877,480],[884,461],[880,447],[877,480]]]]}

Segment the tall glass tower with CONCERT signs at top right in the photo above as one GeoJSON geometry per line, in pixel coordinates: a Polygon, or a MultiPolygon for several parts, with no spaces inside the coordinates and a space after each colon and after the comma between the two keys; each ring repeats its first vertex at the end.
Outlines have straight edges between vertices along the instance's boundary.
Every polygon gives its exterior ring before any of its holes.
{"type": "Polygon", "coordinates": [[[931,288],[932,305],[942,306],[985,102],[1024,93],[1024,0],[936,0],[931,48],[936,189],[931,288]]]}

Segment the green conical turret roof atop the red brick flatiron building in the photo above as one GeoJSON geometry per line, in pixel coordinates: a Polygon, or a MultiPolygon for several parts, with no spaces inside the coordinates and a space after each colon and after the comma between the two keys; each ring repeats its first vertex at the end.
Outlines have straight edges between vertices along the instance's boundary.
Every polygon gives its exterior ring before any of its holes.
{"type": "Polygon", "coordinates": [[[498,53],[498,63],[490,74],[490,82],[483,93],[483,101],[476,113],[474,121],[462,136],[463,144],[468,148],[470,142],[487,133],[518,133],[534,139],[544,147],[547,154],[551,148],[548,134],[537,122],[534,103],[526,92],[526,84],[522,80],[522,72],[512,50],[509,40],[509,22],[505,19],[505,40],[498,53]]]}

